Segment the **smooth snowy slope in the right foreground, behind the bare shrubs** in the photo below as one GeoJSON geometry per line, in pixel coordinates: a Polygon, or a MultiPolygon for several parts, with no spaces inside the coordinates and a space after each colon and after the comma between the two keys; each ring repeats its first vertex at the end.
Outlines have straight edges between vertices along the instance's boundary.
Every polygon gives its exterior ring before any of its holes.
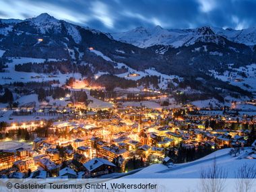
{"type": "Polygon", "coordinates": [[[230,156],[229,152],[230,148],[218,150],[199,160],[183,164],[174,164],[173,166],[169,166],[169,168],[163,164],[154,164],[125,178],[199,179],[201,171],[207,170],[207,168],[212,166],[214,158],[216,158],[217,166],[225,170],[228,178],[235,178],[235,171],[243,166],[243,164],[256,164],[255,159],[246,158],[251,152],[249,148],[246,148],[244,152],[241,152],[241,154],[236,157],[230,156]]]}

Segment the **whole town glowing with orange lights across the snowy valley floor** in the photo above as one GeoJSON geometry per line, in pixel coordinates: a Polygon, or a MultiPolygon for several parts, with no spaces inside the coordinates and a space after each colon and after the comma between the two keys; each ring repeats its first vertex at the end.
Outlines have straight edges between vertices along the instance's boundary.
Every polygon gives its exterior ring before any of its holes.
{"type": "Polygon", "coordinates": [[[192,104],[170,108],[164,101],[171,95],[146,88],[133,92],[133,98],[127,97],[131,92],[110,94],[81,81],[66,88],[69,93],[57,99],[62,106],[1,108],[2,114],[12,113],[1,125],[2,177],[115,178],[150,164],[193,161],[222,148],[238,154],[252,139],[255,115],[235,110],[236,104],[229,110],[192,104]],[[89,98],[72,102],[77,92],[85,92],[94,105],[89,98]],[[104,100],[91,96],[99,92],[104,100]]]}

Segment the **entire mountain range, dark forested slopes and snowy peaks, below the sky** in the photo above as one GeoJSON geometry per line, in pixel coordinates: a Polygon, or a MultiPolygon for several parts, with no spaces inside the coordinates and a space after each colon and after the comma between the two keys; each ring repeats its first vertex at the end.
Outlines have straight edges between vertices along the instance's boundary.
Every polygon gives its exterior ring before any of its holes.
{"type": "Polygon", "coordinates": [[[133,81],[158,76],[159,88],[191,88],[221,97],[255,93],[255,44],[255,28],[166,30],[156,26],[108,34],[47,13],[26,20],[0,20],[3,61],[9,57],[66,59],[73,65],[57,65],[62,73],[75,70],[86,77],[114,75],[133,81]]]}

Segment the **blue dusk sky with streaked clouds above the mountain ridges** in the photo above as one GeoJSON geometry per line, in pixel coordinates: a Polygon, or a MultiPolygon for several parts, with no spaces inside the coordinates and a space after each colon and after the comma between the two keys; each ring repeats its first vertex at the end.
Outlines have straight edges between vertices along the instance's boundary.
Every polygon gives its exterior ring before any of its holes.
{"type": "Polygon", "coordinates": [[[106,32],[156,25],[248,28],[256,26],[255,10],[255,0],[0,0],[3,18],[24,19],[47,12],[106,32]]]}

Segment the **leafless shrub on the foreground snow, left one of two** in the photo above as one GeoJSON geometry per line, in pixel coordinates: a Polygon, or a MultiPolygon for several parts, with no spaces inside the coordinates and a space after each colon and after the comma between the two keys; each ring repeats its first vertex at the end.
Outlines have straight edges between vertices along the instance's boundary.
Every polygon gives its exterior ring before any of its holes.
{"type": "Polygon", "coordinates": [[[201,183],[199,188],[203,192],[221,192],[224,191],[226,177],[228,176],[224,168],[216,164],[216,158],[212,166],[201,170],[201,183]]]}

